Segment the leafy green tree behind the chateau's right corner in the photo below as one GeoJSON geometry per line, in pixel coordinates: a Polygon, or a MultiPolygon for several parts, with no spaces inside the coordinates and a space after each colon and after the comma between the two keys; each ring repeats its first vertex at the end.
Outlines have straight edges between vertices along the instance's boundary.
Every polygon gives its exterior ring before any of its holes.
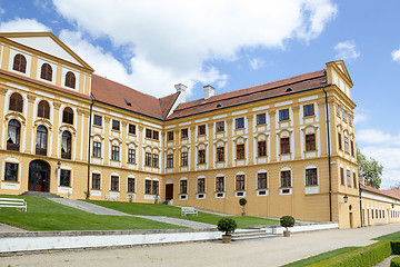
{"type": "Polygon", "coordinates": [[[364,180],[367,186],[379,189],[382,182],[383,166],[374,158],[367,158],[359,148],[357,148],[357,161],[359,177],[364,180]]]}

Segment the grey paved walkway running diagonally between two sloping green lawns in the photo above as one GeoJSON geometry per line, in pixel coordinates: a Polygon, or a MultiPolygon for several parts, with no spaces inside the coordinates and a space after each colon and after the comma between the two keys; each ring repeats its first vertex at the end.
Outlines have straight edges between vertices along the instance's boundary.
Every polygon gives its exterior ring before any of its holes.
{"type": "Polygon", "coordinates": [[[66,206],[69,206],[69,207],[76,208],[76,209],[84,210],[87,212],[96,214],[96,215],[133,216],[133,217],[138,217],[138,218],[157,220],[157,221],[161,221],[161,222],[166,222],[166,224],[170,224],[170,225],[178,225],[178,226],[183,226],[183,227],[193,228],[193,229],[216,228],[214,225],[191,221],[191,220],[186,220],[186,219],[177,219],[177,218],[170,218],[170,217],[164,217],[164,216],[141,216],[141,215],[124,214],[121,211],[117,211],[113,209],[104,208],[104,207],[101,207],[101,206],[98,206],[94,204],[80,201],[80,200],[76,200],[76,199],[67,199],[67,198],[49,198],[49,199],[54,202],[62,204],[62,205],[66,205],[66,206]]]}

